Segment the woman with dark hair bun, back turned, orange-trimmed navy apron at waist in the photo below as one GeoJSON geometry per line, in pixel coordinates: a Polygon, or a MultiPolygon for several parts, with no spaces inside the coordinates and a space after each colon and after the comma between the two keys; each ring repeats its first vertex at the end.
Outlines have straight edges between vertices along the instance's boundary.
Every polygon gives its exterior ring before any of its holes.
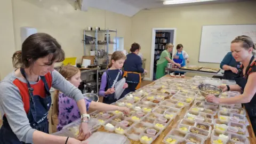
{"type": "Polygon", "coordinates": [[[134,92],[140,88],[141,74],[147,74],[148,71],[142,68],[142,60],[138,55],[140,52],[140,45],[138,43],[133,43],[131,46],[131,53],[126,55],[126,60],[124,62],[124,77],[126,77],[126,83],[128,88],[126,92],[134,92]]]}

